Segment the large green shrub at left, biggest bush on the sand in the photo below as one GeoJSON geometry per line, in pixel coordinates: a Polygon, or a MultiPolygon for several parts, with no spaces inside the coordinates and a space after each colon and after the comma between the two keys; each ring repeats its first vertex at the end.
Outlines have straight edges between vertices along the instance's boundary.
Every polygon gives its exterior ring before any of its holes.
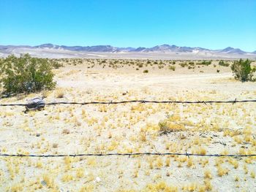
{"type": "Polygon", "coordinates": [[[31,93],[54,88],[53,65],[46,58],[10,55],[0,61],[0,84],[4,93],[31,93]]]}

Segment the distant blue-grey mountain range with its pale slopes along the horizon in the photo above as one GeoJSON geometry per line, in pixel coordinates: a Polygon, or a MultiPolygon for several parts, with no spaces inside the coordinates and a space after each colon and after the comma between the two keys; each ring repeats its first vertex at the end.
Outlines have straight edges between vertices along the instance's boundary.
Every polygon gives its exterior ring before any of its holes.
{"type": "Polygon", "coordinates": [[[29,45],[0,45],[0,57],[10,54],[19,55],[20,53],[30,53],[38,57],[89,57],[96,55],[103,57],[105,54],[122,57],[127,55],[139,55],[139,57],[147,57],[151,55],[163,55],[178,57],[178,55],[186,55],[187,57],[213,57],[213,58],[256,58],[256,50],[254,52],[246,52],[239,48],[226,47],[223,50],[210,50],[202,47],[180,47],[176,45],[157,45],[154,47],[113,47],[111,45],[95,45],[95,46],[66,46],[43,44],[37,46],[29,45]],[[116,54],[116,53],[126,53],[116,54]],[[102,55],[103,54],[103,55],[102,55]]]}

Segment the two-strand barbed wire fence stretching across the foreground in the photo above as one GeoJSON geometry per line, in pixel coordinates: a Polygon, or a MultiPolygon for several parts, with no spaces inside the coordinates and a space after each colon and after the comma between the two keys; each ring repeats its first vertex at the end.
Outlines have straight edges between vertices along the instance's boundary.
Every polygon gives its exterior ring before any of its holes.
{"type": "MultiPolygon", "coordinates": [[[[256,102],[256,99],[246,100],[228,100],[228,101],[149,101],[149,100],[129,100],[129,101],[90,101],[90,102],[49,102],[44,105],[57,105],[57,104],[127,104],[127,103],[154,103],[154,104],[236,104],[236,103],[247,103],[256,102]]],[[[0,107],[26,107],[28,104],[0,104],[0,107]]],[[[35,106],[37,107],[37,106],[35,106]]],[[[80,153],[80,154],[56,154],[56,155],[36,155],[36,154],[7,154],[0,153],[2,157],[34,157],[34,158],[58,158],[58,157],[81,157],[81,156],[136,156],[136,155],[186,155],[189,156],[207,156],[207,157],[233,157],[233,158],[244,158],[244,157],[256,157],[256,154],[200,154],[200,153],[80,153]]]]}

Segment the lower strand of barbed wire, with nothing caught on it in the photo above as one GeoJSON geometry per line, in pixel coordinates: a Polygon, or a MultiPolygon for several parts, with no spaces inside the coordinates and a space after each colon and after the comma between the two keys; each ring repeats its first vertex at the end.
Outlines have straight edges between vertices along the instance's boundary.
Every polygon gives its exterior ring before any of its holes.
{"type": "Polygon", "coordinates": [[[207,156],[207,157],[254,157],[256,154],[250,155],[233,155],[233,154],[195,154],[195,153],[83,153],[83,154],[59,154],[59,155],[25,155],[25,154],[5,154],[5,157],[34,157],[34,158],[56,158],[56,157],[80,157],[80,156],[132,156],[132,155],[186,155],[186,156],[207,156]]]}

